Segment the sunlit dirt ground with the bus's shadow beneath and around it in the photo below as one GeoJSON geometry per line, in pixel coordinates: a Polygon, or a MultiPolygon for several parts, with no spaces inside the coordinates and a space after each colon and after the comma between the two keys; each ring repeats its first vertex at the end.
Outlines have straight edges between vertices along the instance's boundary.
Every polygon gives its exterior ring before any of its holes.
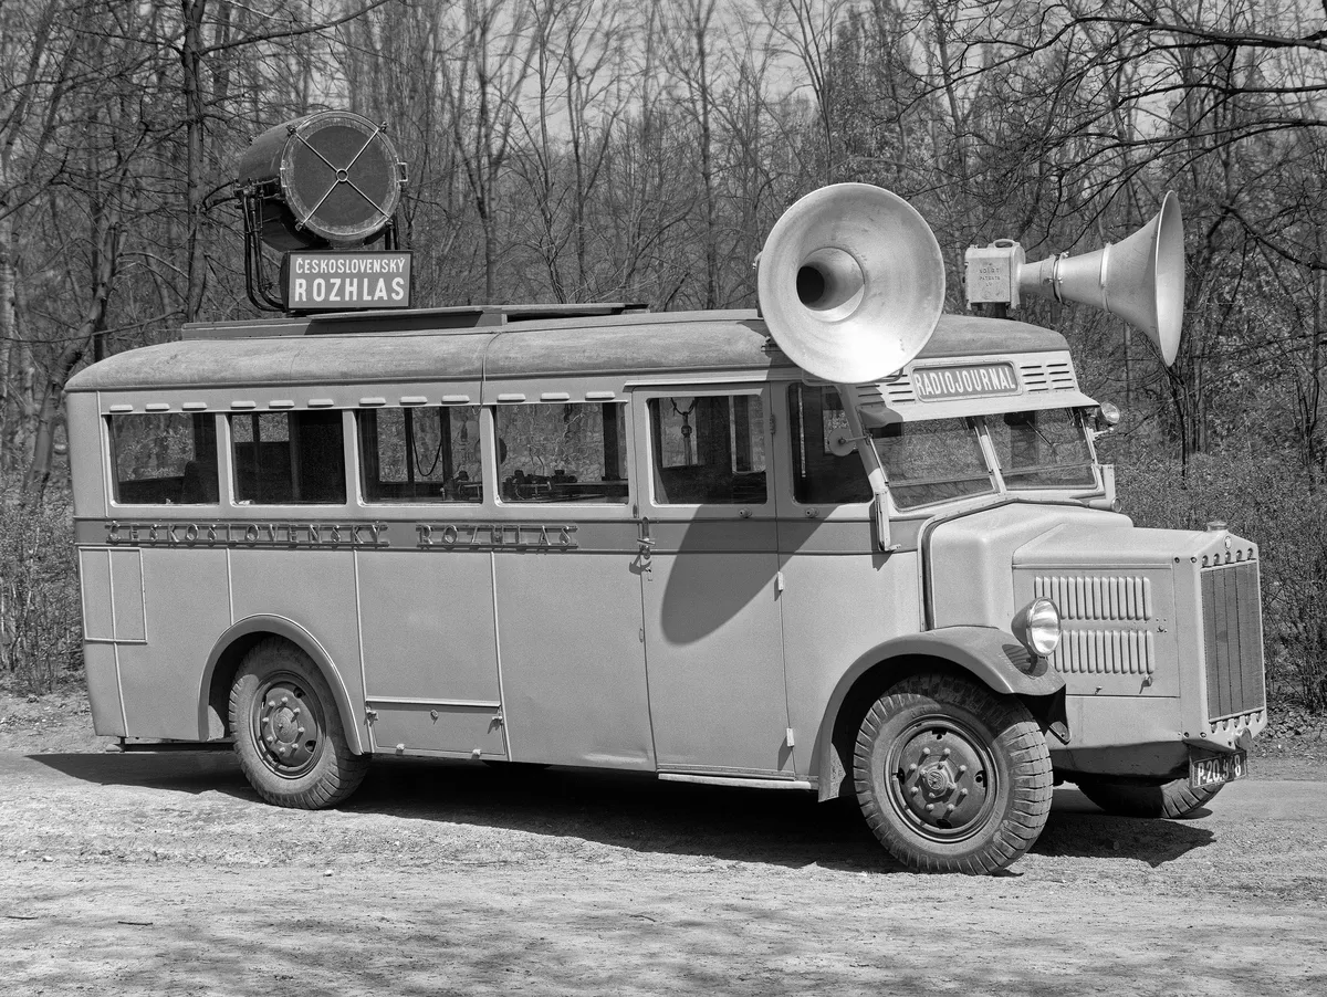
{"type": "Polygon", "coordinates": [[[1311,720],[1190,821],[1062,786],[979,879],[802,793],[387,760],[304,813],[227,753],[102,746],[78,689],[0,693],[3,994],[1327,992],[1311,720]]]}

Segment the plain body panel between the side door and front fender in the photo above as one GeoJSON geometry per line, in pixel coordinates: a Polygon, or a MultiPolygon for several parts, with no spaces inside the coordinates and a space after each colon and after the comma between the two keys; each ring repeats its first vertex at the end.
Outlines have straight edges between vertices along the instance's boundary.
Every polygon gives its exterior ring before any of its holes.
{"type": "MultiPolygon", "coordinates": [[[[823,534],[857,534],[872,546],[869,524],[820,524],[823,534]]],[[[832,545],[839,546],[839,545],[832,545]]],[[[784,578],[783,638],[788,662],[788,719],[799,744],[815,744],[825,705],[844,671],[889,638],[921,630],[917,552],[835,554],[813,538],[780,557],[784,578]]],[[[798,776],[813,776],[819,758],[799,750],[798,776]]],[[[845,760],[851,765],[851,760],[845,760]]]]}

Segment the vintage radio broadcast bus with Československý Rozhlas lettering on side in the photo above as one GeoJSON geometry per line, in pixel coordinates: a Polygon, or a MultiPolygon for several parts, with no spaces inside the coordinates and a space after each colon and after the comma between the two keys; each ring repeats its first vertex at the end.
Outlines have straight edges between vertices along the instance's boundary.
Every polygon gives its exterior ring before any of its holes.
{"type": "Polygon", "coordinates": [[[1243,774],[1258,549],[1117,512],[1062,335],[943,316],[831,383],[768,310],[285,316],[81,371],[97,732],[232,741],[293,807],[374,754],[855,794],[966,872],[1056,782],[1161,817],[1243,774]]]}

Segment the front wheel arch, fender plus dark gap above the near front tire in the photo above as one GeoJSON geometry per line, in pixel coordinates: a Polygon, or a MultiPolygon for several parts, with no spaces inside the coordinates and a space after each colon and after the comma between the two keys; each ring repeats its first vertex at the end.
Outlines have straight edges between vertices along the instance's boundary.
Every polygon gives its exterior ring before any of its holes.
{"type": "Polygon", "coordinates": [[[886,640],[844,671],[825,704],[811,764],[821,801],[839,795],[843,782],[851,785],[845,760],[852,758],[857,728],[871,705],[902,679],[932,671],[973,677],[993,692],[1018,696],[1043,727],[1063,720],[1064,679],[1044,659],[1034,660],[1011,634],[994,627],[943,627],[886,640]]]}

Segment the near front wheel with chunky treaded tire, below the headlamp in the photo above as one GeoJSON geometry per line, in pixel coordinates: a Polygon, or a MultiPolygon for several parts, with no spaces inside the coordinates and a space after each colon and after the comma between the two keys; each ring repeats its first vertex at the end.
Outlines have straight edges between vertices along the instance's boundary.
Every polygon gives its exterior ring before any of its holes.
{"type": "Polygon", "coordinates": [[[867,712],[857,802],[880,843],[918,872],[997,872],[1051,810],[1051,756],[1027,708],[967,679],[918,675],[867,712]]]}

